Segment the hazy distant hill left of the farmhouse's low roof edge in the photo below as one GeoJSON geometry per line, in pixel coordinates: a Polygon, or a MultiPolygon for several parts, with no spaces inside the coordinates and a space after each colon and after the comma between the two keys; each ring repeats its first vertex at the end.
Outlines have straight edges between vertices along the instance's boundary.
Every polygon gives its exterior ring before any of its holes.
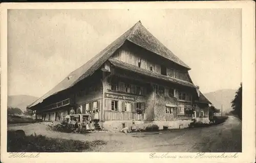
{"type": "Polygon", "coordinates": [[[34,102],[37,97],[28,96],[28,95],[14,95],[8,96],[7,105],[8,107],[18,107],[22,109],[22,111],[26,110],[26,107],[34,102]]]}

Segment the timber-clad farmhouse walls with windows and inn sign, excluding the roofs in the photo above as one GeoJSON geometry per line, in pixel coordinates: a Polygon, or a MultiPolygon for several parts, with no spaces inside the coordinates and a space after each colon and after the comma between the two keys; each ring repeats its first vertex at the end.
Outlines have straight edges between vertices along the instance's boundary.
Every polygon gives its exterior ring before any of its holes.
{"type": "MultiPolygon", "coordinates": [[[[149,73],[192,83],[187,69],[135,44],[123,44],[111,58],[146,69],[149,73]]],[[[38,114],[45,121],[57,121],[69,114],[73,107],[76,113],[89,112],[94,115],[98,111],[100,121],[186,120],[193,118],[191,110],[195,109],[193,101],[197,95],[193,89],[141,75],[132,69],[127,71],[106,61],[74,87],[48,98],[38,114]],[[67,98],[73,102],[66,103],[67,98]],[[52,110],[46,110],[48,106],[52,110]]],[[[200,114],[198,107],[197,114],[200,114]]]]}

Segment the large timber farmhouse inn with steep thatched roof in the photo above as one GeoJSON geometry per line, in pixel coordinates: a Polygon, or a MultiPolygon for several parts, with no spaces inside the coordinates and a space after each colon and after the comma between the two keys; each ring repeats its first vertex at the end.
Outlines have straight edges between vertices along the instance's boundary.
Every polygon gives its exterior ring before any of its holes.
{"type": "Polygon", "coordinates": [[[72,108],[98,113],[101,125],[134,120],[177,127],[207,120],[211,103],[189,69],[138,21],[28,108],[43,121],[61,120],[72,108]]]}

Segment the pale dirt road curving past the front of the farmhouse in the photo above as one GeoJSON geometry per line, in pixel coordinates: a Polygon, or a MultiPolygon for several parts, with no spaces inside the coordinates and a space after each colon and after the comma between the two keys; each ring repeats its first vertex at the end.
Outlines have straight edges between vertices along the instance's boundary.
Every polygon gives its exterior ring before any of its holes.
{"type": "Polygon", "coordinates": [[[49,131],[44,124],[8,126],[10,130],[23,129],[26,134],[108,143],[94,149],[97,152],[241,152],[241,121],[229,117],[216,126],[160,132],[138,133],[88,133],[72,134],[49,131]]]}

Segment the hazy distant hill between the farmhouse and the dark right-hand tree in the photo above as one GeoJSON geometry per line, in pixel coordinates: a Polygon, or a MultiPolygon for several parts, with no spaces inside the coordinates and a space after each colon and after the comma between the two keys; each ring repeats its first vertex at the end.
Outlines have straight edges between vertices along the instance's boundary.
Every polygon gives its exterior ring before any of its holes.
{"type": "Polygon", "coordinates": [[[232,110],[231,101],[236,95],[236,89],[221,89],[204,94],[205,97],[217,108],[222,110],[223,114],[232,110]]]}

